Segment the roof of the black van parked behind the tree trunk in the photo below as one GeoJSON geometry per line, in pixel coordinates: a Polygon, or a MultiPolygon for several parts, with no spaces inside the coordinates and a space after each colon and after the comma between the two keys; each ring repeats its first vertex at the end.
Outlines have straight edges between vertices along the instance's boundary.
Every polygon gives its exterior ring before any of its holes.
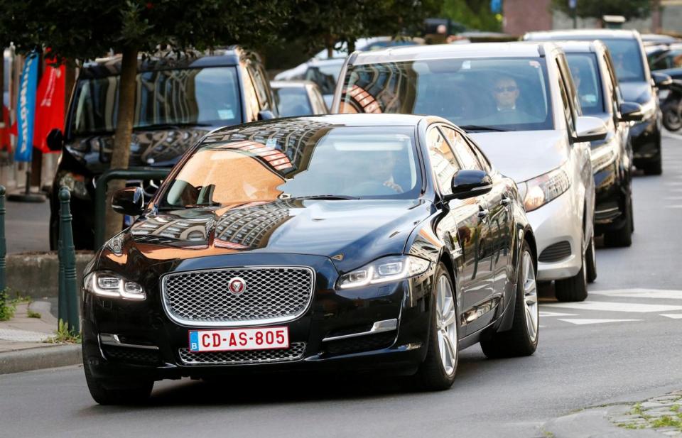
{"type": "MultiPolygon", "coordinates": [[[[188,50],[179,54],[169,52],[156,56],[139,56],[137,71],[149,72],[178,68],[234,67],[239,65],[240,60],[244,59],[260,62],[260,58],[256,53],[242,50],[242,48],[239,47],[216,49],[212,50],[210,53],[188,50]]],[[[120,75],[120,73],[121,55],[117,54],[107,58],[98,58],[94,61],[85,62],[78,79],[107,77],[120,75]]]]}

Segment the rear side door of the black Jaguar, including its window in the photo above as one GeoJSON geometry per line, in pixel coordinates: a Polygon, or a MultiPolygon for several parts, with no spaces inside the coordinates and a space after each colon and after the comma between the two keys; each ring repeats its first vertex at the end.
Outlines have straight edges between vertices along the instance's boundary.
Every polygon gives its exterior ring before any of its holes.
{"type": "MultiPolygon", "coordinates": [[[[472,150],[465,136],[454,128],[441,125],[440,131],[445,134],[445,140],[453,151],[455,158],[460,163],[460,168],[467,170],[486,170],[481,165],[477,155],[472,150]]],[[[486,170],[487,171],[487,170],[486,170]]],[[[500,295],[504,285],[496,285],[497,282],[497,258],[502,254],[499,245],[500,236],[504,234],[504,214],[499,208],[502,202],[502,192],[498,188],[493,188],[489,193],[474,198],[479,206],[478,218],[481,221],[481,232],[479,236],[479,248],[475,263],[475,274],[477,282],[468,291],[469,298],[473,302],[475,309],[467,317],[472,319],[467,324],[467,333],[475,332],[477,329],[485,327],[494,315],[494,297],[500,295]]],[[[502,209],[504,210],[504,209],[502,209]]],[[[504,260],[502,260],[504,263],[504,260]]],[[[500,265],[502,269],[504,266],[500,265]]],[[[502,283],[502,282],[501,282],[502,283]]]]}

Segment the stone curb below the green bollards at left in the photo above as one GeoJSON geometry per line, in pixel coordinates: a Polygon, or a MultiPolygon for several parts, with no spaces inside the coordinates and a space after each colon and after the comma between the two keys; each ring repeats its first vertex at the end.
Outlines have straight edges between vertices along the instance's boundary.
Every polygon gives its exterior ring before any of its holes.
{"type": "Polygon", "coordinates": [[[0,374],[55,368],[82,363],[80,344],[39,346],[0,353],[0,374]]]}

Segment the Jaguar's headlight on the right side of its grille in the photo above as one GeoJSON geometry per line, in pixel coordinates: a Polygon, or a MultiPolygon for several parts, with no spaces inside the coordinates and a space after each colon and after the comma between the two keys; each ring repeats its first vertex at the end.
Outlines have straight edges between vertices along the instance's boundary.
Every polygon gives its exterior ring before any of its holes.
{"type": "Polygon", "coordinates": [[[361,286],[387,283],[423,274],[431,262],[415,256],[389,256],[379,258],[362,268],[341,275],[339,288],[359,288],[361,286]]]}

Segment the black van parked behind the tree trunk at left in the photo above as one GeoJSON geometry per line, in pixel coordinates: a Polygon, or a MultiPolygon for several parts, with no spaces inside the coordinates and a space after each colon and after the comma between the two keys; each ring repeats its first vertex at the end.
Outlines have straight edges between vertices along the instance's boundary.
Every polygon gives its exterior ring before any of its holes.
{"type": "MultiPolygon", "coordinates": [[[[61,150],[50,194],[50,248],[59,233],[58,190],[70,188],[75,247],[94,245],[94,186],[109,169],[116,128],[120,55],[87,63],[75,84],[65,131],[48,146],[61,150]]],[[[138,64],[130,166],[168,167],[217,126],[277,114],[263,65],[240,48],[212,55],[141,58],[138,64]]],[[[153,195],[158,182],[131,182],[153,195]]]]}

